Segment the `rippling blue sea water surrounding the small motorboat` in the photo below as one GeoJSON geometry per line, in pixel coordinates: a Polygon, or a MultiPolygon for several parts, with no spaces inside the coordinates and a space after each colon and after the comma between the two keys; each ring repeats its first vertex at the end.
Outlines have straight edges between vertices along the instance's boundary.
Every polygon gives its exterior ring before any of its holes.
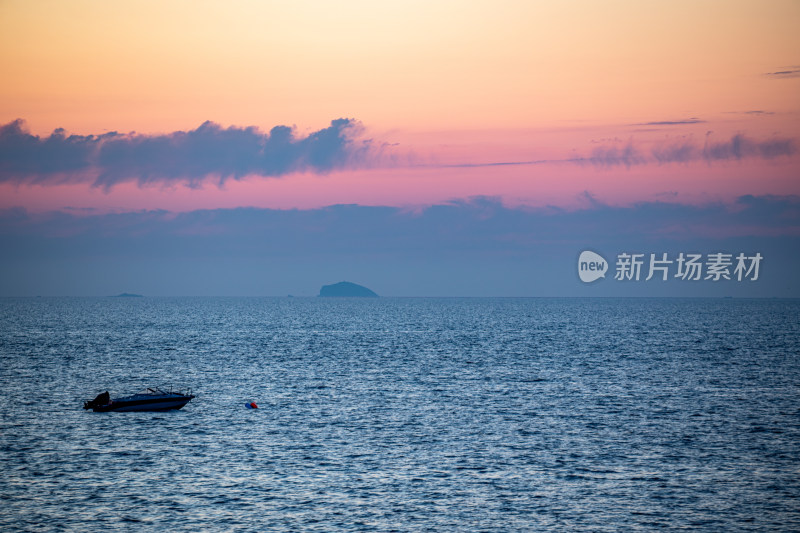
{"type": "Polygon", "coordinates": [[[0,387],[2,531],[800,530],[797,300],[3,299],[0,387]]]}

